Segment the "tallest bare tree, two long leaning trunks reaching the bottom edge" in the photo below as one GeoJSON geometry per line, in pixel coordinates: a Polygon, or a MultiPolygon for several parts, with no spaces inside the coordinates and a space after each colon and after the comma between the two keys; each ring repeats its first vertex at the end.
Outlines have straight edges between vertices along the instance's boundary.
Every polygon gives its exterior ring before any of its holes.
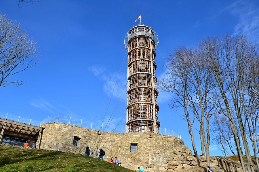
{"type": "Polygon", "coordinates": [[[203,39],[199,43],[199,48],[206,54],[207,64],[214,73],[217,89],[220,91],[220,95],[224,101],[226,114],[234,135],[239,161],[243,171],[245,171],[236,127],[240,130],[247,157],[246,165],[248,172],[254,172],[246,136],[247,117],[244,115],[245,93],[247,92],[245,78],[248,76],[247,69],[253,56],[251,46],[251,42],[243,35],[236,37],[229,35],[223,37],[213,36],[203,39]],[[234,111],[231,110],[232,105],[234,111]],[[237,118],[237,126],[235,126],[233,115],[237,118]]]}

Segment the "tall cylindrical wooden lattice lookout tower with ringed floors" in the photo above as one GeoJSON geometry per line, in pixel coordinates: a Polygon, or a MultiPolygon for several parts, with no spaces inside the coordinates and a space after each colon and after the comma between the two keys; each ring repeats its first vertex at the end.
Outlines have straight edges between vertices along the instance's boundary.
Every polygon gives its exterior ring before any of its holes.
{"type": "Polygon", "coordinates": [[[140,24],[129,30],[124,44],[128,50],[127,132],[159,134],[155,76],[157,35],[150,27],[140,24]]]}

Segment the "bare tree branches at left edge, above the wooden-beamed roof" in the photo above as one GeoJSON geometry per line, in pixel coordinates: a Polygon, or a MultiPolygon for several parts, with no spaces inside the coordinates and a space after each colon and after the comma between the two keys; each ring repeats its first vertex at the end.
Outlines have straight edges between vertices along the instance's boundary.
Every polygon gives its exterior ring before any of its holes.
{"type": "Polygon", "coordinates": [[[39,62],[39,47],[25,30],[0,14],[0,87],[8,84],[22,85],[25,80],[9,81],[9,77],[39,62]]]}

